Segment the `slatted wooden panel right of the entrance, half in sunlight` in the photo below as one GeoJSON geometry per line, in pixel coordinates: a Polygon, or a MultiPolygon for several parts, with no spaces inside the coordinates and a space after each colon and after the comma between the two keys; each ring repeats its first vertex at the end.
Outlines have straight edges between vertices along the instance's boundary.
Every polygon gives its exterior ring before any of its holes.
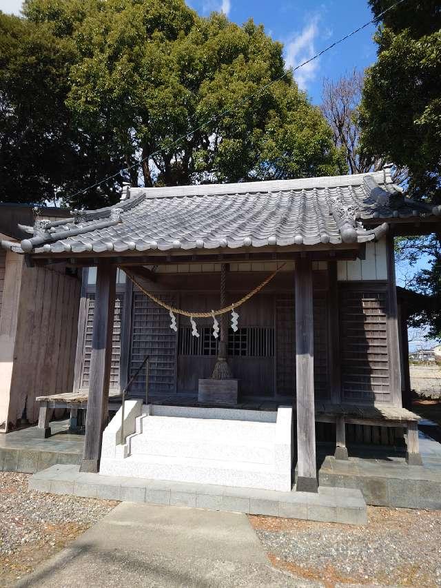
{"type": "Polygon", "coordinates": [[[387,293],[340,286],[342,394],[350,401],[390,400],[387,293]]]}

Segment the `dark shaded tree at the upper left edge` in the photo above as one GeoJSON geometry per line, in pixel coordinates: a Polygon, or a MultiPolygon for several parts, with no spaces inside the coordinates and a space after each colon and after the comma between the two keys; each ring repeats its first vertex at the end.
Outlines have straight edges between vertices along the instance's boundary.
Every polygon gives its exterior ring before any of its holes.
{"type": "Polygon", "coordinates": [[[118,165],[72,124],[65,99],[76,58],[47,26],[0,13],[0,200],[53,201],[118,165]]]}

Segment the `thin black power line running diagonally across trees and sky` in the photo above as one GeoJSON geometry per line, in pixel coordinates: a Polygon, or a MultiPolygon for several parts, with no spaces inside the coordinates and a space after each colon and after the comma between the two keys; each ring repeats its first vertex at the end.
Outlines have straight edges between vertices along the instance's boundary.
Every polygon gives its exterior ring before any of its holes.
{"type": "Polygon", "coordinates": [[[346,41],[347,39],[349,39],[349,37],[352,37],[354,34],[357,34],[358,32],[360,32],[361,30],[367,28],[369,25],[371,24],[377,24],[381,18],[384,16],[384,14],[386,14],[387,12],[389,12],[389,10],[392,10],[393,8],[396,8],[397,6],[399,6],[400,4],[402,4],[403,2],[405,2],[407,0],[397,0],[395,3],[393,3],[391,6],[389,6],[389,8],[386,8],[385,10],[383,10],[382,12],[380,12],[380,14],[378,14],[378,17],[373,17],[373,19],[371,19],[370,21],[368,21],[367,23],[365,23],[362,26],[359,26],[358,28],[354,29],[353,31],[345,34],[344,37],[341,37],[340,39],[338,39],[337,41],[334,41],[334,43],[331,43],[331,45],[327,45],[327,47],[325,47],[324,49],[322,49],[320,52],[316,53],[315,55],[313,55],[313,57],[310,57],[309,59],[307,59],[306,61],[303,61],[302,63],[299,63],[298,65],[296,65],[295,68],[289,68],[288,70],[286,70],[281,76],[279,76],[278,78],[271,80],[270,82],[262,85],[260,88],[258,88],[258,90],[256,90],[256,92],[254,92],[254,94],[249,94],[249,96],[245,97],[244,99],[240,100],[239,102],[237,102],[234,106],[229,107],[229,108],[225,108],[225,110],[222,110],[221,112],[219,112],[218,114],[214,114],[214,116],[211,116],[209,119],[207,119],[205,122],[201,123],[201,125],[199,125],[196,128],[193,128],[192,130],[190,130],[189,132],[187,132],[186,134],[178,137],[178,139],[176,139],[176,141],[173,141],[172,143],[169,143],[168,145],[165,145],[163,143],[161,148],[158,148],[156,151],[154,151],[153,153],[150,153],[149,155],[143,157],[143,159],[140,159],[139,161],[136,161],[135,163],[133,163],[132,165],[127,166],[127,168],[123,168],[122,170],[119,170],[118,172],[116,172],[116,174],[113,174],[112,176],[107,176],[105,179],[96,182],[88,187],[83,188],[82,190],[78,190],[78,192],[75,192],[74,194],[72,194],[70,196],[70,199],[74,198],[75,196],[78,196],[79,194],[84,194],[85,192],[88,192],[88,190],[92,190],[92,188],[94,187],[98,187],[99,185],[112,180],[118,176],[121,175],[121,173],[123,172],[129,172],[130,170],[134,170],[135,168],[139,168],[140,165],[142,165],[145,161],[147,161],[150,158],[153,158],[155,155],[159,155],[161,154],[161,151],[167,147],[168,149],[172,148],[172,147],[176,147],[177,145],[179,145],[179,143],[181,143],[181,141],[183,141],[183,139],[188,139],[190,136],[192,136],[192,134],[194,134],[195,132],[197,132],[198,130],[203,129],[204,127],[206,127],[209,123],[212,123],[214,121],[217,121],[218,119],[222,118],[223,116],[225,116],[225,114],[229,114],[230,112],[232,112],[233,109],[238,108],[238,106],[243,105],[245,102],[249,101],[252,98],[256,98],[258,97],[260,94],[262,94],[263,92],[265,92],[265,90],[267,90],[268,88],[271,88],[271,85],[274,85],[275,83],[277,83],[278,81],[282,80],[283,78],[285,78],[289,73],[294,74],[294,72],[296,72],[297,70],[300,70],[300,68],[304,67],[305,65],[307,65],[308,63],[311,63],[311,61],[314,61],[315,59],[318,59],[319,57],[322,56],[322,54],[326,53],[327,51],[329,51],[330,49],[336,47],[336,45],[340,45],[340,43],[342,43],[343,41],[346,41]]]}

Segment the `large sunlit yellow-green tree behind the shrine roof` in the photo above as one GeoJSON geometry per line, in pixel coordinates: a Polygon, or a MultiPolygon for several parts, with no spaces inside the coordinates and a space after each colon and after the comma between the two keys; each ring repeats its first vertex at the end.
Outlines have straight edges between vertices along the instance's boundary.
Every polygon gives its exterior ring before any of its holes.
{"type": "Polygon", "coordinates": [[[117,173],[144,159],[130,171],[134,185],[345,171],[320,110],[284,75],[282,45],[252,21],[203,19],[183,0],[27,0],[23,12],[26,26],[71,52],[60,112],[83,168],[52,183],[70,205],[115,198],[125,172],[70,197],[100,161],[117,173]]]}

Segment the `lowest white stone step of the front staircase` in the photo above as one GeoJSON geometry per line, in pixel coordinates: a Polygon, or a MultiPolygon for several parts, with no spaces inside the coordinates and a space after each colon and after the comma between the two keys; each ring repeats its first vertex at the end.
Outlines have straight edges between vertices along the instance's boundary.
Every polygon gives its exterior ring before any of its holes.
{"type": "Polygon", "coordinates": [[[233,460],[134,454],[121,460],[102,458],[100,473],[241,488],[291,489],[290,472],[280,474],[274,465],[233,460]]]}

